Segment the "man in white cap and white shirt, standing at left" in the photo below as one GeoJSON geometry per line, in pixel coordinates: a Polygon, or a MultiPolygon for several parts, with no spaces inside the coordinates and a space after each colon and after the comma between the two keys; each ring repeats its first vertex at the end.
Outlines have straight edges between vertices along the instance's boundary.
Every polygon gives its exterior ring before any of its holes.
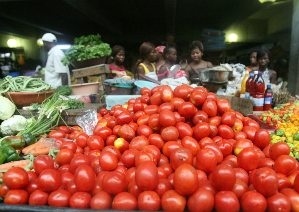
{"type": "Polygon", "coordinates": [[[65,57],[61,49],[56,46],[57,39],[54,34],[46,33],[42,36],[44,48],[48,52],[48,60],[45,67],[45,82],[52,87],[70,85],[70,71],[64,66],[61,59],[65,57]]]}

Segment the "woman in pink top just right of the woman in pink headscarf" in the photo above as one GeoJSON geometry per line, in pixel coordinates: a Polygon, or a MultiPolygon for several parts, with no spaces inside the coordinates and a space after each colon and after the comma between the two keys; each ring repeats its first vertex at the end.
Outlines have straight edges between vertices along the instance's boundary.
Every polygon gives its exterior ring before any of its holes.
{"type": "Polygon", "coordinates": [[[164,49],[165,64],[161,66],[159,72],[157,72],[158,80],[161,81],[170,75],[170,68],[176,62],[177,59],[176,48],[173,46],[166,46],[164,49]]]}

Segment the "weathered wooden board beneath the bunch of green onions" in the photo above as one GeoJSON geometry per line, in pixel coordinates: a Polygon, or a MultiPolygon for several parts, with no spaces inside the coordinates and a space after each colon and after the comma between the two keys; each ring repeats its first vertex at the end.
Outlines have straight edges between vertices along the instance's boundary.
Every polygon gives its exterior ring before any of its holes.
{"type": "MultiPolygon", "coordinates": [[[[76,116],[82,116],[86,113],[87,110],[96,110],[97,112],[105,108],[106,104],[97,104],[97,103],[90,103],[90,104],[85,104],[84,108],[77,108],[77,109],[68,109],[64,110],[61,113],[62,119],[65,121],[67,125],[77,125],[77,122],[75,120],[76,116]]],[[[21,115],[24,116],[25,118],[30,118],[32,117],[29,111],[25,110],[19,110],[21,115]]],[[[37,115],[37,111],[31,111],[32,115],[37,115]]],[[[19,115],[18,111],[15,111],[15,115],[19,115]]],[[[37,118],[37,117],[36,117],[37,118]]],[[[65,125],[65,123],[60,120],[59,125],[65,125]]]]}

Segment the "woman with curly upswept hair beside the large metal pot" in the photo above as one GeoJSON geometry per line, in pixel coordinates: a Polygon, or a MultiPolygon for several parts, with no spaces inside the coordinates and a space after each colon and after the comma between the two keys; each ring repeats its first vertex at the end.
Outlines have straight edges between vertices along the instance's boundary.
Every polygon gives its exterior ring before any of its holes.
{"type": "Polygon", "coordinates": [[[185,68],[185,72],[187,77],[190,79],[191,83],[196,83],[194,78],[199,78],[200,68],[212,68],[213,64],[211,62],[202,60],[202,55],[204,53],[204,46],[202,42],[199,40],[195,40],[190,44],[189,47],[191,53],[191,59],[193,60],[190,64],[188,64],[185,68]]]}

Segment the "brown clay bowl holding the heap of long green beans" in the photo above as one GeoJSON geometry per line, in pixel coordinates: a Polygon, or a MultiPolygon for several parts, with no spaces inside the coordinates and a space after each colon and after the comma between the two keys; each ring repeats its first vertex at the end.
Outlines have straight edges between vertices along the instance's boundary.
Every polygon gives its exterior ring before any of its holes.
{"type": "Polygon", "coordinates": [[[39,103],[47,99],[57,90],[48,90],[43,92],[7,92],[5,97],[11,100],[17,108],[30,106],[31,103],[39,103]]]}

